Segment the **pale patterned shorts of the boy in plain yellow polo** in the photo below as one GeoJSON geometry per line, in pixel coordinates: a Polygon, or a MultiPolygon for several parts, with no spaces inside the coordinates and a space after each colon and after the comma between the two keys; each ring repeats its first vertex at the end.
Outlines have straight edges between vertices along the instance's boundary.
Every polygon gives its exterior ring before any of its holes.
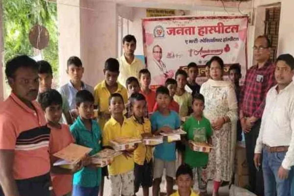
{"type": "Polygon", "coordinates": [[[134,195],[134,171],[110,175],[111,196],[134,195]]]}

